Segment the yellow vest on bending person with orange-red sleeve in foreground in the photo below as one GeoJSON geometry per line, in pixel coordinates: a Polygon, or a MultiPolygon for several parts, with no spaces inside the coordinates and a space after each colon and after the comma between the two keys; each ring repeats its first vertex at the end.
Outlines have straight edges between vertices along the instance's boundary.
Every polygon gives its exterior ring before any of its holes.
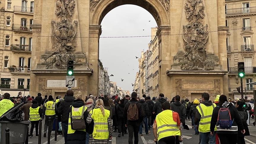
{"type": "Polygon", "coordinates": [[[177,122],[173,120],[172,111],[164,110],[156,116],[157,139],[164,137],[180,135],[180,129],[177,122]]]}

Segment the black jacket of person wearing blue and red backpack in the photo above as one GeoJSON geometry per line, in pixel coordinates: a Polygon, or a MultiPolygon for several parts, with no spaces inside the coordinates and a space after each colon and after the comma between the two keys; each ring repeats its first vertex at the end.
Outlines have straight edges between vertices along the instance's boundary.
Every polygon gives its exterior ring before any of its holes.
{"type": "MultiPolygon", "coordinates": [[[[239,116],[239,113],[237,111],[237,109],[230,103],[228,102],[225,102],[227,104],[226,108],[229,109],[230,111],[230,115],[231,115],[231,119],[234,120],[233,121],[233,124],[232,126],[237,126],[238,129],[240,130],[244,130],[244,126],[242,124],[242,121],[241,121],[241,118],[239,116]]],[[[224,104],[225,104],[224,103],[224,104]]],[[[224,105],[223,104],[223,105],[224,105]]],[[[218,113],[219,113],[219,110],[220,110],[220,107],[223,107],[222,106],[216,106],[214,109],[213,109],[213,112],[212,112],[212,119],[211,119],[211,127],[210,127],[210,130],[211,132],[214,132],[214,128],[216,126],[216,123],[217,123],[217,119],[218,119],[218,113]]],[[[217,126],[218,126],[218,123],[217,123],[217,126]]],[[[237,134],[238,131],[230,131],[230,130],[221,130],[221,131],[218,131],[217,130],[217,133],[219,134],[237,134]]]]}

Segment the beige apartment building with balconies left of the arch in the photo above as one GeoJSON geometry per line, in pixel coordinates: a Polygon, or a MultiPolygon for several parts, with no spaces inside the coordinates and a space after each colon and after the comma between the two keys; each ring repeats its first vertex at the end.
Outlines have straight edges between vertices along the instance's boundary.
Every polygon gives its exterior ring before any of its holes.
{"type": "Polygon", "coordinates": [[[0,8],[0,93],[17,96],[29,90],[34,1],[0,0],[0,8]]]}

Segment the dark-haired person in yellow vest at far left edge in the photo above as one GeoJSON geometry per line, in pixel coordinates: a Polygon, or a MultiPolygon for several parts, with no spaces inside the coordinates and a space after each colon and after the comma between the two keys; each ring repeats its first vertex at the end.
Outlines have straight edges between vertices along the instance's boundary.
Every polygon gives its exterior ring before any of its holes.
{"type": "Polygon", "coordinates": [[[0,101],[0,116],[2,116],[5,112],[14,107],[14,103],[12,103],[12,101],[9,100],[9,93],[4,93],[3,97],[4,99],[0,101]]]}

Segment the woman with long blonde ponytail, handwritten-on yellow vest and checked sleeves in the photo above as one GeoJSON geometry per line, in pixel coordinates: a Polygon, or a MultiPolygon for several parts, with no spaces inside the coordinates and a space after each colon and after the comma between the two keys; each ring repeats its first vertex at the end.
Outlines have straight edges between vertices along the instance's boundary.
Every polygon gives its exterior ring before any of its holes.
{"type": "Polygon", "coordinates": [[[90,124],[94,121],[94,129],[90,135],[90,144],[108,144],[108,139],[112,139],[113,127],[110,118],[110,111],[104,109],[103,100],[96,100],[96,107],[89,112],[86,119],[90,124]]]}

